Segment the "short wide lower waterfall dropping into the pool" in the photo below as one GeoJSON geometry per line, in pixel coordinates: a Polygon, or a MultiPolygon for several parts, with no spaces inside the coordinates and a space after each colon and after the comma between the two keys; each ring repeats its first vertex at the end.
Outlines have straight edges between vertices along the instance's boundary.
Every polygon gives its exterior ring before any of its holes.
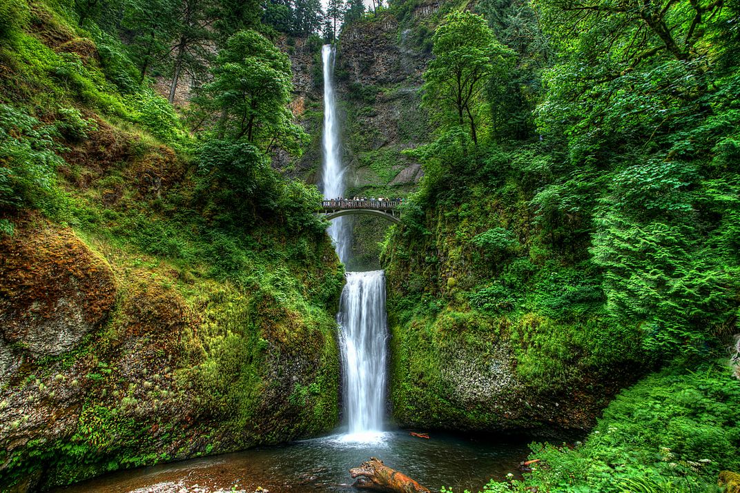
{"type": "Polygon", "coordinates": [[[349,435],[362,438],[383,429],[388,333],[383,271],[347,273],[337,321],[349,435]]]}

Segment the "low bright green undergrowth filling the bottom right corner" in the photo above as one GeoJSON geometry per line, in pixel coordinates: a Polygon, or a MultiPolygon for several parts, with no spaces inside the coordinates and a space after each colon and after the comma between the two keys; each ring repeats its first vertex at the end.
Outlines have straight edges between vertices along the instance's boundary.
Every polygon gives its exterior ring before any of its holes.
{"type": "Polygon", "coordinates": [[[536,446],[543,464],[517,491],[705,491],[740,467],[738,399],[724,365],[650,375],[616,397],[581,446],[536,446]]]}

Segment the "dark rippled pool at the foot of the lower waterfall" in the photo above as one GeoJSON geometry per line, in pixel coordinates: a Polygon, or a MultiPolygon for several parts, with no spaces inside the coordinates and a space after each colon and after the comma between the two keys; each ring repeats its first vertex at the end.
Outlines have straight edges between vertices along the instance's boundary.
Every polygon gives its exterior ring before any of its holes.
{"type": "Polygon", "coordinates": [[[432,491],[441,486],[477,492],[491,477],[517,474],[525,460],[526,441],[513,438],[476,438],[437,435],[414,438],[408,432],[367,436],[332,435],[209,458],[184,460],[98,477],[65,493],[270,493],[357,492],[349,469],[370,457],[383,460],[432,491]],[[358,438],[360,439],[358,441],[358,438]],[[365,438],[365,440],[362,440],[365,438]]]}

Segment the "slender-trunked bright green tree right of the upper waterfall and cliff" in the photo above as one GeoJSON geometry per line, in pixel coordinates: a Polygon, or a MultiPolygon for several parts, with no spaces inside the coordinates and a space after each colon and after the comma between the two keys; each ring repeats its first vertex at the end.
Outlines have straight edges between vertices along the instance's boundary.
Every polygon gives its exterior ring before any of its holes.
{"type": "Polygon", "coordinates": [[[439,111],[443,124],[467,125],[477,145],[482,89],[513,53],[494,39],[482,16],[469,12],[448,14],[434,33],[432,53],[424,72],[425,104],[439,111]]]}

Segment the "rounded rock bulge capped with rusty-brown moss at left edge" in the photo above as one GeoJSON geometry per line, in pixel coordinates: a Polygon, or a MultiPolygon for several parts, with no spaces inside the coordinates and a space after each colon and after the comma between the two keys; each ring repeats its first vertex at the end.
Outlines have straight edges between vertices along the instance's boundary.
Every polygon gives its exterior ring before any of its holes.
{"type": "Polygon", "coordinates": [[[58,356],[99,327],[115,304],[115,277],[68,228],[21,222],[0,238],[0,373],[9,346],[58,356]]]}

